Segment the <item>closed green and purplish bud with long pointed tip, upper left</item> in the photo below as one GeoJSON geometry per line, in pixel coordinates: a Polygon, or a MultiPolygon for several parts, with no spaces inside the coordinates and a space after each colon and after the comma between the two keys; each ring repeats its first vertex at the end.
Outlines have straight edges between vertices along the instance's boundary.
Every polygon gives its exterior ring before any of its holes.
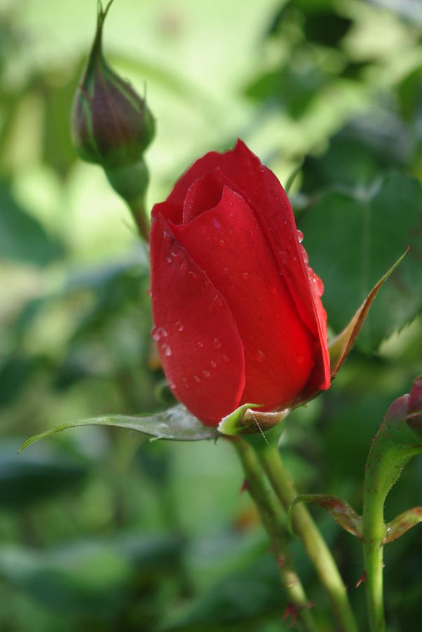
{"type": "MultiPolygon", "coordinates": [[[[104,168],[139,224],[136,214],[139,207],[143,211],[149,180],[142,156],[154,138],[155,124],[145,100],[111,70],[102,54],[102,28],[111,1],[105,11],[98,3],[97,31],[74,100],[72,139],[83,160],[104,168]]],[[[145,225],[139,228],[146,230],[145,225]]]]}

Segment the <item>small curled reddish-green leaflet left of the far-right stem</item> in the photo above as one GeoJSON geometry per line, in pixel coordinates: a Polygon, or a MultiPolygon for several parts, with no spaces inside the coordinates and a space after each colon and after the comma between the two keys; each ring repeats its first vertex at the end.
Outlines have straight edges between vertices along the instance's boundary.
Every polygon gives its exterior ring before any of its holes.
{"type": "Polygon", "coordinates": [[[313,503],[325,509],[340,527],[362,539],[362,518],[346,501],[329,494],[301,494],[294,499],[287,513],[287,528],[292,533],[292,512],[298,503],[313,503]]]}

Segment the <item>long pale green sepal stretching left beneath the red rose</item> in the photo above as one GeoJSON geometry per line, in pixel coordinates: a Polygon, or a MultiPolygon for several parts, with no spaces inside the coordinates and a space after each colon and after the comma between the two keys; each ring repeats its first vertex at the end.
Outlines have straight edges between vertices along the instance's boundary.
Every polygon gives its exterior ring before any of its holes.
{"type": "Polygon", "coordinates": [[[46,430],[41,435],[30,437],[21,445],[19,452],[22,452],[23,449],[40,439],[46,439],[51,435],[60,433],[62,430],[67,430],[67,428],[77,428],[79,426],[115,426],[116,428],[136,430],[155,439],[173,441],[200,441],[203,439],[215,439],[219,436],[215,428],[204,426],[184,406],[179,404],[154,415],[139,417],[110,415],[64,423],[62,426],[46,430]]]}

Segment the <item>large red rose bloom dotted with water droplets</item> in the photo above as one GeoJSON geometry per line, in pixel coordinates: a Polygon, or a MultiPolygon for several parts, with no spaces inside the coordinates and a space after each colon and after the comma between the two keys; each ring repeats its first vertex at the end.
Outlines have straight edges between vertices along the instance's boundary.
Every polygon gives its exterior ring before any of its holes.
{"type": "Polygon", "coordinates": [[[286,407],[329,388],[321,280],[275,175],[238,140],[156,204],[154,329],[172,392],[207,426],[241,404],[286,407]]]}

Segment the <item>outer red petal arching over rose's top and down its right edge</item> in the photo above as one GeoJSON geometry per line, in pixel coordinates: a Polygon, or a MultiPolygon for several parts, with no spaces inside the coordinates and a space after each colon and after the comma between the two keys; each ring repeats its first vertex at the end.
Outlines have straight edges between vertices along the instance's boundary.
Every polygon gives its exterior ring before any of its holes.
{"type": "MultiPolygon", "coordinates": [[[[285,276],[299,315],[315,336],[316,362],[306,390],[325,390],[329,388],[331,376],[327,349],[327,315],[320,301],[323,286],[319,277],[304,261],[304,250],[297,239],[292,207],[272,171],[261,164],[242,140],[238,140],[232,151],[224,154],[209,152],[198,159],[178,180],[168,202],[182,209],[184,198],[193,181],[218,167],[233,182],[233,190],[247,199],[257,216],[285,276]]],[[[154,212],[155,209],[153,214],[154,212]]]]}

